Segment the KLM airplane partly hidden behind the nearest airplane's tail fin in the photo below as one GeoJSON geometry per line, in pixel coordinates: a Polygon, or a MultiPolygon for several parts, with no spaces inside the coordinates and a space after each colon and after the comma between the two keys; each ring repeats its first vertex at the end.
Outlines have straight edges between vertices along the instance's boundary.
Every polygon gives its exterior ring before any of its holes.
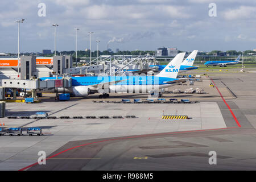
{"type": "MultiPolygon", "coordinates": [[[[191,52],[191,54],[181,63],[179,72],[185,72],[198,68],[193,67],[193,63],[196,59],[197,52],[198,50],[194,50],[193,52],[191,52]]],[[[150,67],[158,67],[158,71],[162,71],[166,67],[166,65],[150,65],[150,67]]]]}

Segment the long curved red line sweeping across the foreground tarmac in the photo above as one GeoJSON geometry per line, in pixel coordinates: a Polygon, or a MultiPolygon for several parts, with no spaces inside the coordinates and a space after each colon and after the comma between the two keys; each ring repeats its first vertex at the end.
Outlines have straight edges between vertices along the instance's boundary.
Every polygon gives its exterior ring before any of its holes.
{"type": "MultiPolygon", "coordinates": [[[[236,129],[236,128],[237,127],[225,127],[225,128],[220,128],[220,129],[177,131],[177,132],[170,132],[170,133],[146,134],[146,135],[136,135],[136,136],[133,136],[133,137],[122,137],[122,138],[106,139],[106,140],[101,140],[101,141],[98,141],[98,142],[85,143],[85,144],[81,144],[80,146],[75,146],[75,147],[72,147],[72,148],[68,148],[68,149],[66,149],[64,151],[61,151],[61,152],[55,154],[55,155],[49,156],[49,158],[46,158],[46,160],[54,158],[55,156],[63,154],[64,152],[67,152],[67,151],[72,150],[74,148],[78,148],[78,147],[82,147],[82,146],[87,146],[89,144],[94,144],[94,143],[102,143],[102,142],[109,142],[109,141],[113,141],[113,140],[122,140],[122,139],[133,139],[133,138],[140,138],[140,137],[154,137],[154,136],[161,136],[161,135],[168,135],[168,134],[183,134],[183,133],[193,133],[193,132],[195,133],[197,131],[213,131],[213,130],[225,130],[225,129],[236,129]]],[[[35,166],[36,164],[38,164],[38,162],[36,162],[34,164],[31,164],[30,166],[24,167],[22,169],[19,169],[19,171],[24,171],[24,170],[26,170],[26,169],[28,169],[30,167],[35,166]]]]}

